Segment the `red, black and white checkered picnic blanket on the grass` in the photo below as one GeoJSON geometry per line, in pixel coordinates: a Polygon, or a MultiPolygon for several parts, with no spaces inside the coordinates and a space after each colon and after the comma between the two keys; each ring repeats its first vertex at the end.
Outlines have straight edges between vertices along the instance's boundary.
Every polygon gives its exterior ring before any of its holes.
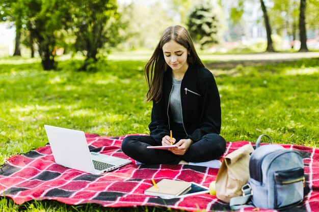
{"type": "MultiPolygon", "coordinates": [[[[120,148],[125,136],[86,134],[86,137],[90,151],[129,159],[120,148]]],[[[247,143],[250,142],[227,142],[224,156],[247,143]]],[[[287,144],[283,146],[301,153],[306,175],[304,201],[287,211],[319,211],[319,149],[287,144]]],[[[16,204],[49,199],[72,205],[98,203],[105,207],[147,205],[185,211],[231,211],[227,203],[209,194],[174,199],[143,194],[145,189],[152,186],[151,178],[155,181],[162,178],[194,181],[208,187],[216,179],[217,172],[218,169],[192,165],[138,166],[132,160],[132,163],[119,169],[94,175],[56,164],[50,146],[46,145],[6,161],[0,171],[0,189],[3,191],[0,195],[12,198],[16,204]]],[[[248,207],[241,211],[254,211],[254,208],[248,207]]]]}

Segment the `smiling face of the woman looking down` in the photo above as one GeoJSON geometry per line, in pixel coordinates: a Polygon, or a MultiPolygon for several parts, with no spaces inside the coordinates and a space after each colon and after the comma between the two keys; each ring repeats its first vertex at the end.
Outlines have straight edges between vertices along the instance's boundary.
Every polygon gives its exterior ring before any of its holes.
{"type": "Polygon", "coordinates": [[[189,51],[185,47],[171,40],[163,45],[163,53],[167,65],[172,68],[173,72],[185,73],[187,71],[189,51]]]}

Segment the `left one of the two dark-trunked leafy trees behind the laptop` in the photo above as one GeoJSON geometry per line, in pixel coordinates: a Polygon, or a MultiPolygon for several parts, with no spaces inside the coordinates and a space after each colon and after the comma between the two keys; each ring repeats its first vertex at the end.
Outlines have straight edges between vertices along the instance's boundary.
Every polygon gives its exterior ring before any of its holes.
{"type": "Polygon", "coordinates": [[[67,26],[70,13],[67,0],[20,0],[22,24],[30,32],[30,43],[37,43],[44,70],[56,68],[58,32],[67,26]]]}

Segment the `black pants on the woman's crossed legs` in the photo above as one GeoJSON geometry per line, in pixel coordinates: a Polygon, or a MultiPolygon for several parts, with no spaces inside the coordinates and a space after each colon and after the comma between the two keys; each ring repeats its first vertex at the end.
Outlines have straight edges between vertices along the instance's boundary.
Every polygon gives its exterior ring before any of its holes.
{"type": "MultiPolygon", "coordinates": [[[[183,131],[177,129],[173,131],[176,142],[185,138],[183,134],[183,131]]],[[[169,150],[146,148],[157,145],[158,143],[151,136],[133,135],[124,138],[122,150],[125,155],[144,164],[178,164],[181,160],[186,162],[210,161],[221,157],[226,150],[226,141],[218,134],[204,135],[201,140],[193,143],[182,156],[175,155],[169,150]]]]}

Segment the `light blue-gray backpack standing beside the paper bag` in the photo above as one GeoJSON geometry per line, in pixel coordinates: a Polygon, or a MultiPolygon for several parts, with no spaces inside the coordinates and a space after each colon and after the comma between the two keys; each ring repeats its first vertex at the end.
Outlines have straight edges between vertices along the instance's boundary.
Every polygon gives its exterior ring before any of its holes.
{"type": "Polygon", "coordinates": [[[272,144],[268,135],[260,135],[249,161],[249,181],[242,188],[243,197],[230,199],[231,209],[260,207],[284,209],[304,198],[304,162],[296,150],[272,144]],[[265,136],[271,145],[260,146],[265,136]]]}

